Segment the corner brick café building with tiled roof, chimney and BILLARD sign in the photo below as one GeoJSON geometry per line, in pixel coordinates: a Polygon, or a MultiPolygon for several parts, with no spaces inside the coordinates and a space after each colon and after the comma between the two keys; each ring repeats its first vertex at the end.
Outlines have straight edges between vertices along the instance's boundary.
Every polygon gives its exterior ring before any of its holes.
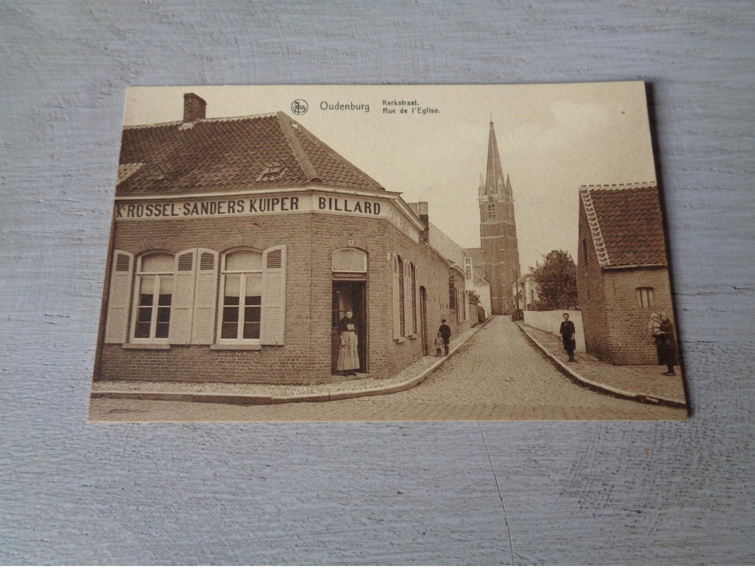
{"type": "Polygon", "coordinates": [[[282,112],[125,127],[95,380],[317,384],[337,322],[360,373],[470,327],[464,272],[414,213],[282,112]]]}

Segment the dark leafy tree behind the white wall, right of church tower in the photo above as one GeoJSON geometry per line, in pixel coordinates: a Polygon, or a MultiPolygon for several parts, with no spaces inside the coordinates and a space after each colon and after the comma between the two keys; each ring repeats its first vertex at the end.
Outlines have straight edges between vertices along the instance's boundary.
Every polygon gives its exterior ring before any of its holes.
{"type": "Polygon", "coordinates": [[[564,250],[551,250],[543,263],[529,267],[529,275],[538,286],[540,299],[532,308],[541,312],[574,309],[577,306],[577,265],[564,250]]]}

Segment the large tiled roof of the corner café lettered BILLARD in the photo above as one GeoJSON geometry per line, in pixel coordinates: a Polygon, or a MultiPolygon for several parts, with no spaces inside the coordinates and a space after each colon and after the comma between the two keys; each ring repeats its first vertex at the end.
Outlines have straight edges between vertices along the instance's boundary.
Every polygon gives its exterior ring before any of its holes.
{"type": "Polygon", "coordinates": [[[119,195],[308,182],[384,189],[283,112],[125,127],[119,173],[119,195]]]}

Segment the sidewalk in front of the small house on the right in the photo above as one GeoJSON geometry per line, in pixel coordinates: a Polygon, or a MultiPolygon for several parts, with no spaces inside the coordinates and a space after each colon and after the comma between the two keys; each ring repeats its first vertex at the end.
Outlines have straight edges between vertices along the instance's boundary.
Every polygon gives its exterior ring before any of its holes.
{"type": "Polygon", "coordinates": [[[612,365],[587,353],[576,353],[570,363],[559,336],[522,323],[519,328],[575,382],[621,398],[650,404],[684,407],[684,384],[680,369],[676,376],[664,376],[660,365],[612,365]]]}

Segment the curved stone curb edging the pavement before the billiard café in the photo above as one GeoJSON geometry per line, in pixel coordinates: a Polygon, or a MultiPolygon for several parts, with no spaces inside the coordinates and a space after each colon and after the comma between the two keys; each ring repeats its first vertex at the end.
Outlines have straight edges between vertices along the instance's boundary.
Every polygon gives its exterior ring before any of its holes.
{"type": "Polygon", "coordinates": [[[172,401],[172,402],[208,402],[214,404],[289,404],[295,402],[328,402],[342,401],[347,398],[373,397],[377,395],[392,395],[394,392],[406,391],[419,385],[424,379],[430,376],[438,367],[448,361],[458,350],[472,339],[475,334],[485,327],[492,320],[488,318],[478,327],[473,328],[473,333],[464,342],[459,343],[448,351],[448,356],[439,358],[438,361],[430,365],[427,369],[402,382],[393,385],[377,386],[373,388],[361,388],[353,391],[322,391],[310,392],[303,395],[221,395],[220,393],[205,393],[202,395],[193,395],[188,392],[134,392],[134,391],[92,391],[91,398],[117,398],[121,400],[135,401],[172,401]]]}

